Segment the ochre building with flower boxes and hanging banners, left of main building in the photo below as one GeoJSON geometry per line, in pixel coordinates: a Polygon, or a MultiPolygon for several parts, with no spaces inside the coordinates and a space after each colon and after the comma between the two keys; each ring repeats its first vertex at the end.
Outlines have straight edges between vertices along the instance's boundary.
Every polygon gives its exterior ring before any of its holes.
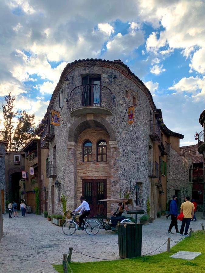
{"type": "Polygon", "coordinates": [[[26,204],[31,206],[33,213],[43,213],[48,210],[48,179],[46,179],[46,160],[48,160],[48,150],[41,150],[40,139],[35,138],[29,141],[22,149],[25,153],[25,171],[26,179],[21,178],[22,187],[26,204]],[[30,174],[30,167],[33,167],[34,173],[30,174]],[[36,193],[35,187],[39,189],[39,211],[36,211],[36,193]]]}

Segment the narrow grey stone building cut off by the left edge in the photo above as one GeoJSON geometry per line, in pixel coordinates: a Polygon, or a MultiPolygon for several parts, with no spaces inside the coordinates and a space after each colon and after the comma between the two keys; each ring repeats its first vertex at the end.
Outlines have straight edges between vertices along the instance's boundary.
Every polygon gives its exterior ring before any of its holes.
{"type": "Polygon", "coordinates": [[[0,191],[1,191],[1,212],[6,212],[6,182],[5,182],[5,147],[8,141],[0,140],[0,191]]]}

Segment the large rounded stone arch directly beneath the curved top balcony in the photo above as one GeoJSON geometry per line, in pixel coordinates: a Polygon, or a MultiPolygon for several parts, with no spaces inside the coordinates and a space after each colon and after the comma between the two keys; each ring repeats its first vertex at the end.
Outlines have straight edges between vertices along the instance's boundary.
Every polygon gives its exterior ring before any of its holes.
{"type": "Polygon", "coordinates": [[[105,130],[109,134],[111,141],[116,140],[116,135],[111,124],[103,117],[91,114],[91,119],[88,119],[87,116],[82,116],[73,122],[68,133],[68,142],[77,143],[80,133],[91,127],[99,127],[105,130]]]}

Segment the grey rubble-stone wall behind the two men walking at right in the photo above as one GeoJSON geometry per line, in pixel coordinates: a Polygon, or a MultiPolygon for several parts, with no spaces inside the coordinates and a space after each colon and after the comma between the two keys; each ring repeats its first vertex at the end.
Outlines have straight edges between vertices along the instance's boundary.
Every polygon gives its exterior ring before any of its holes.
{"type": "MultiPolygon", "coordinates": [[[[170,145],[171,146],[171,145],[170,145]]],[[[167,202],[172,200],[175,190],[179,191],[181,203],[185,196],[192,197],[192,181],[189,181],[189,170],[193,169],[192,160],[180,156],[172,147],[167,155],[167,202]]]]}

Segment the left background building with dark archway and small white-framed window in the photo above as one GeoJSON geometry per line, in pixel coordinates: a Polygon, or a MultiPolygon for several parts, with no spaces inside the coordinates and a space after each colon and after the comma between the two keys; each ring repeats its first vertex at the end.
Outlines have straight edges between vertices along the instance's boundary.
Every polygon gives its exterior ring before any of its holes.
{"type": "Polygon", "coordinates": [[[5,152],[5,182],[6,182],[6,199],[9,202],[15,201],[20,205],[19,180],[22,179],[22,170],[25,166],[25,156],[21,151],[5,152]]]}

